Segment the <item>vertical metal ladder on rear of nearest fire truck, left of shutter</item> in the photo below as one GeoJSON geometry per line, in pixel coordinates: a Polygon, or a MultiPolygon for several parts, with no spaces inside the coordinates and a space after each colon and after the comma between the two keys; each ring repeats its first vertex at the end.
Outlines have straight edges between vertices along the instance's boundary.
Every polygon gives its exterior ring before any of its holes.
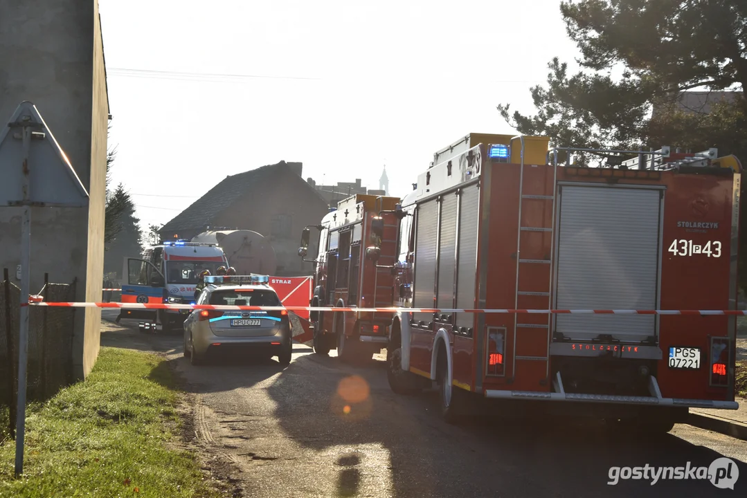
{"type": "MultiPolygon", "coordinates": [[[[518,234],[516,237],[516,296],[515,296],[515,304],[514,308],[518,309],[518,300],[521,296],[540,296],[540,297],[546,297],[548,300],[548,306],[547,309],[551,309],[551,291],[552,291],[552,274],[553,274],[553,250],[554,250],[554,222],[555,222],[555,204],[556,204],[556,196],[557,196],[557,161],[554,161],[553,166],[553,195],[548,196],[546,193],[538,194],[538,193],[524,193],[524,136],[518,135],[516,137],[513,137],[509,141],[509,148],[512,146],[514,140],[519,140],[521,143],[521,169],[519,170],[519,181],[518,181],[518,234]],[[525,200],[541,200],[541,201],[547,201],[551,200],[551,209],[552,214],[550,218],[550,226],[522,226],[521,225],[521,214],[523,212],[524,208],[524,201],[525,200]],[[550,259],[525,259],[521,258],[521,232],[523,231],[534,231],[534,232],[545,232],[550,234],[550,259]],[[523,265],[546,265],[548,268],[548,274],[549,274],[549,286],[547,290],[521,290],[519,288],[519,275],[521,273],[521,267],[523,265]]],[[[517,313],[514,315],[514,332],[513,332],[513,354],[512,354],[512,361],[511,361],[511,379],[514,379],[516,376],[516,361],[545,361],[547,367],[546,367],[546,373],[545,373],[545,379],[548,379],[550,376],[550,337],[551,337],[551,321],[552,321],[552,315],[548,314],[548,322],[547,324],[539,324],[539,323],[519,323],[519,317],[522,316],[530,316],[530,315],[519,315],[517,313]],[[547,328],[547,349],[545,349],[545,356],[517,356],[516,355],[516,339],[517,339],[517,329],[545,329],[547,328]]],[[[526,320],[525,320],[526,321],[526,320]]],[[[531,320],[529,320],[531,321],[531,320]]]]}

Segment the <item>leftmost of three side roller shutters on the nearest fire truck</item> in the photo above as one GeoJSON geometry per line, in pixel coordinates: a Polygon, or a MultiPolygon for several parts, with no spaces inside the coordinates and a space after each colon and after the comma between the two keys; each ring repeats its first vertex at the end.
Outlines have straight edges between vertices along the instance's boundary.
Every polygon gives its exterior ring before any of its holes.
{"type": "MultiPolygon", "coordinates": [[[[433,308],[436,303],[433,291],[436,288],[436,238],[438,236],[438,201],[432,199],[418,205],[418,220],[415,229],[415,308],[433,308]]],[[[433,313],[415,313],[416,322],[433,322],[433,313]]]]}

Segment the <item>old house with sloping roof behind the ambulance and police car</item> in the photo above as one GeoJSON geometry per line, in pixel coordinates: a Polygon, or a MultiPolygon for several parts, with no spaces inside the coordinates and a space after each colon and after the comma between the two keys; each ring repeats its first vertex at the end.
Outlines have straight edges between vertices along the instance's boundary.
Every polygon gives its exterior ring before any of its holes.
{"type": "MultiPolygon", "coordinates": [[[[301,231],[329,212],[326,199],[301,177],[302,163],[270,164],[227,176],[159,231],[161,240],[191,239],[208,229],[253,230],[264,235],[277,258],[277,275],[310,275],[298,257],[301,231]]],[[[311,237],[309,254],[314,254],[311,237]]]]}

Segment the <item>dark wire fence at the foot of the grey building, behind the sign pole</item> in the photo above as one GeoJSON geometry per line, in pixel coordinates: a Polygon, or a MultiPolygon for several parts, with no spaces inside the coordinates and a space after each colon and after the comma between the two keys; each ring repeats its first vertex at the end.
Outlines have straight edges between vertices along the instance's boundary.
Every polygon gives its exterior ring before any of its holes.
{"type": "MultiPolygon", "coordinates": [[[[45,275],[45,281],[47,281],[45,275]]],[[[75,299],[72,284],[47,282],[39,292],[46,302],[75,299]]],[[[0,283],[0,405],[16,413],[21,290],[3,272],[0,283]]],[[[75,311],[69,308],[29,308],[28,399],[48,399],[72,382],[72,339],[75,311]]]]}

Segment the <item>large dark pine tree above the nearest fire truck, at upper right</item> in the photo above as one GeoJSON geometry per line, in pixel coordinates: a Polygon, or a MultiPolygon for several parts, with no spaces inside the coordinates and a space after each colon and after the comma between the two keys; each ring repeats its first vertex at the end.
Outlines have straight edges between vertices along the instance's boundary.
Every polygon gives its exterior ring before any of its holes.
{"type": "MultiPolygon", "coordinates": [[[[560,3],[560,13],[580,49],[580,70],[568,75],[555,57],[547,84],[530,90],[534,115],[498,106],[509,124],[559,147],[716,147],[747,165],[747,1],[571,0],[560,3]],[[709,113],[678,111],[687,90],[729,90],[734,99],[709,113]],[[661,110],[656,116],[654,105],[661,110]]],[[[576,161],[603,164],[604,158],[577,155],[576,161]]],[[[745,210],[740,246],[747,247],[745,210]]],[[[747,250],[739,266],[744,289],[747,250]]]]}

